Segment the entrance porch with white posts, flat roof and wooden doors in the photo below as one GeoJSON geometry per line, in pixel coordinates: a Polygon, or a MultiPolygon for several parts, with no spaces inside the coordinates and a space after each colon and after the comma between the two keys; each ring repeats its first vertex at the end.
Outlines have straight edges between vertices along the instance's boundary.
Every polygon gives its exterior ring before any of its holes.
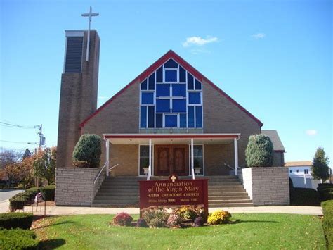
{"type": "Polygon", "coordinates": [[[237,175],[240,134],[104,134],[106,175],[237,175]],[[117,165],[118,164],[118,165],[117,165]],[[112,167],[117,165],[117,168],[112,167]],[[232,167],[231,167],[232,166],[232,167]]]}

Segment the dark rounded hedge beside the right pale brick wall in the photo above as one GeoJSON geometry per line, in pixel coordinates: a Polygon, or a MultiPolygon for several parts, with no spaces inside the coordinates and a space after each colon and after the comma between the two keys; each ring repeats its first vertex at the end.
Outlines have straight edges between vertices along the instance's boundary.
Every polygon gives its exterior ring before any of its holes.
{"type": "Polygon", "coordinates": [[[319,194],[315,189],[294,187],[290,189],[290,205],[320,206],[319,194]]]}

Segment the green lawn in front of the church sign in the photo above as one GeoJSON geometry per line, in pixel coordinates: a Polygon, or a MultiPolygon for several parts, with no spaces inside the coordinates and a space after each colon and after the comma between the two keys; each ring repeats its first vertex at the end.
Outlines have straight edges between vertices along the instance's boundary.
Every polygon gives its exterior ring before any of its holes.
{"type": "Polygon", "coordinates": [[[234,214],[234,224],[186,229],[119,227],[109,225],[112,218],[45,218],[35,232],[44,246],[60,249],[326,249],[320,218],[312,215],[234,214]]]}

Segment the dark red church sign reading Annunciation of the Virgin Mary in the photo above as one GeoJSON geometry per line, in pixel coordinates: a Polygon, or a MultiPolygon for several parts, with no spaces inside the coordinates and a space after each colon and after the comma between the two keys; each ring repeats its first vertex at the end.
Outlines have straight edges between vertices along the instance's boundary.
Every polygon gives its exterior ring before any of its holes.
{"type": "Polygon", "coordinates": [[[208,213],[208,179],[139,180],[140,210],[150,206],[202,205],[208,213]]]}

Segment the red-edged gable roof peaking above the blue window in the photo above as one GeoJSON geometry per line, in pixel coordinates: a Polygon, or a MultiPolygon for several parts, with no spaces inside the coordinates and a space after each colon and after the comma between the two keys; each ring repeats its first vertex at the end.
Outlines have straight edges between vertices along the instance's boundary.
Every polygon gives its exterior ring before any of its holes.
{"type": "Polygon", "coordinates": [[[207,77],[205,77],[204,75],[202,75],[199,71],[197,71],[195,68],[192,67],[192,65],[190,65],[188,62],[186,62],[183,58],[181,58],[181,56],[178,56],[178,54],[176,54],[174,51],[169,50],[168,52],[166,52],[166,54],[164,54],[161,58],[159,58],[157,61],[155,61],[155,63],[152,63],[152,65],[150,65],[145,71],[143,71],[143,73],[141,73],[140,75],[138,75],[134,80],[132,80],[128,85],[126,85],[124,88],[122,88],[119,92],[117,92],[117,94],[115,94],[114,96],[112,96],[109,100],[107,100],[102,106],[100,106],[93,114],[91,114],[88,118],[86,118],[81,124],[80,127],[84,127],[84,125],[91,119],[93,118],[93,116],[95,116],[96,114],[98,114],[101,110],[103,110],[103,108],[105,108],[105,106],[107,106],[108,104],[110,104],[113,100],[115,100],[117,98],[117,96],[119,96],[120,94],[122,94],[122,92],[124,92],[127,88],[129,88],[131,85],[135,84],[137,81],[141,82],[143,80],[145,80],[145,78],[147,78],[150,74],[152,74],[155,70],[157,70],[163,63],[165,63],[167,60],[169,60],[169,58],[173,58],[177,63],[181,64],[181,66],[183,68],[185,68],[185,70],[188,70],[189,73],[191,73],[194,77],[197,78],[197,80],[200,80],[201,82],[205,81],[207,82],[209,85],[211,85],[211,87],[214,87],[214,89],[216,89],[216,91],[218,91],[222,96],[225,96],[229,101],[231,101],[233,104],[235,104],[235,106],[237,106],[238,108],[240,108],[241,111],[243,111],[244,113],[246,113],[247,115],[249,115],[250,118],[252,118],[256,123],[258,123],[258,125],[261,127],[263,125],[263,123],[261,123],[261,121],[259,119],[257,119],[256,117],[254,117],[254,115],[252,115],[252,113],[249,113],[249,111],[247,111],[245,108],[243,108],[240,104],[238,104],[234,99],[232,99],[228,94],[226,94],[226,92],[223,92],[222,89],[220,89],[219,87],[217,87],[216,85],[214,85],[213,82],[211,82],[207,77]]]}

